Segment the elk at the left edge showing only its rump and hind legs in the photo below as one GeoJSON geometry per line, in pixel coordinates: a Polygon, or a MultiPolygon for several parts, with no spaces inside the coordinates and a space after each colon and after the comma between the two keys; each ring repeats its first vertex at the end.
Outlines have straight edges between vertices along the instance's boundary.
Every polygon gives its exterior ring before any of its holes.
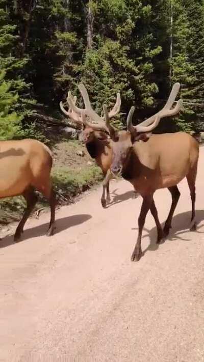
{"type": "Polygon", "coordinates": [[[51,216],[47,236],[53,235],[56,202],[50,180],[52,164],[51,151],[39,141],[0,142],[0,198],[22,195],[27,201],[27,209],[14,235],[15,242],[20,240],[24,224],[37,202],[35,189],[49,201],[51,216]]]}

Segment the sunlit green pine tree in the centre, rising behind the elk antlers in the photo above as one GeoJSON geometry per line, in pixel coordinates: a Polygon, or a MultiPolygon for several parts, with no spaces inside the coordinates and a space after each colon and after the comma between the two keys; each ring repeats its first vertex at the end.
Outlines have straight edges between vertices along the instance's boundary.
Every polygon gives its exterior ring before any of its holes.
{"type": "Polygon", "coordinates": [[[102,105],[112,106],[116,93],[122,97],[122,112],[135,104],[138,109],[151,105],[158,91],[152,82],[152,59],[161,47],[152,46],[146,23],[151,17],[149,5],[138,0],[92,0],[92,47],[87,46],[81,67],[81,79],[88,88],[98,113],[102,105]]]}

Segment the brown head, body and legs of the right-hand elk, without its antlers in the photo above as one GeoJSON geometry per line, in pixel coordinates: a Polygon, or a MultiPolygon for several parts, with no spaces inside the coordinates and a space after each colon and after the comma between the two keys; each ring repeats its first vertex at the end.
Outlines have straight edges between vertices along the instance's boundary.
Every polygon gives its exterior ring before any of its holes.
{"type": "MultiPolygon", "coordinates": [[[[118,142],[113,142],[113,162],[111,171],[120,173],[123,178],[130,181],[142,198],[143,204],[138,219],[138,240],[132,255],[132,260],[139,260],[141,252],[141,236],[145,217],[150,209],[155,218],[158,230],[158,242],[163,235],[168,235],[171,228],[171,219],[180,197],[177,184],[187,178],[191,200],[192,217],[191,230],[195,230],[195,179],[199,146],[195,139],[184,132],[155,134],[147,142],[135,142],[128,131],[115,134],[118,142]],[[135,142],[135,143],[134,143],[135,142]],[[172,205],[162,231],[153,195],[159,188],[167,187],[172,195],[172,205]]],[[[144,138],[144,136],[142,135],[144,138]]]]}

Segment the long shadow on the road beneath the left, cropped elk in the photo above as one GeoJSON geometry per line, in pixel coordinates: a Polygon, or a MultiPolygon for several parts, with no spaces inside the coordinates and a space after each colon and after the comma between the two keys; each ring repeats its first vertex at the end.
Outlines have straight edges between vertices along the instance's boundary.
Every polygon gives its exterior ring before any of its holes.
{"type": "MultiPolygon", "coordinates": [[[[92,216],[89,214],[79,214],[79,215],[72,215],[72,216],[62,217],[61,219],[57,219],[55,234],[58,234],[63,230],[69,229],[72,226],[80,225],[83,222],[89,220],[91,217],[92,216]]],[[[20,241],[24,241],[30,238],[35,238],[38,236],[44,236],[46,234],[46,231],[48,230],[48,226],[49,223],[46,222],[45,224],[38,225],[30,229],[25,229],[20,241]]],[[[13,237],[14,235],[10,235],[6,236],[3,240],[1,240],[0,248],[15,244],[13,241],[13,237]]]]}

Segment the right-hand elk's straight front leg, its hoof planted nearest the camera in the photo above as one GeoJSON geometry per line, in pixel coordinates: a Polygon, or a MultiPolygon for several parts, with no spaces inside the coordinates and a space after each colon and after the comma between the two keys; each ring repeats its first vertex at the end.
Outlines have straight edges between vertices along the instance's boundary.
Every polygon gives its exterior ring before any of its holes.
{"type": "Polygon", "coordinates": [[[146,214],[151,207],[152,200],[153,200],[152,195],[143,197],[142,207],[140,210],[140,215],[138,217],[138,229],[139,229],[138,237],[137,237],[137,242],[136,242],[135,248],[133,250],[132,257],[131,257],[132,261],[134,261],[134,260],[139,261],[142,256],[142,249],[141,249],[142,229],[144,226],[146,214]]]}

